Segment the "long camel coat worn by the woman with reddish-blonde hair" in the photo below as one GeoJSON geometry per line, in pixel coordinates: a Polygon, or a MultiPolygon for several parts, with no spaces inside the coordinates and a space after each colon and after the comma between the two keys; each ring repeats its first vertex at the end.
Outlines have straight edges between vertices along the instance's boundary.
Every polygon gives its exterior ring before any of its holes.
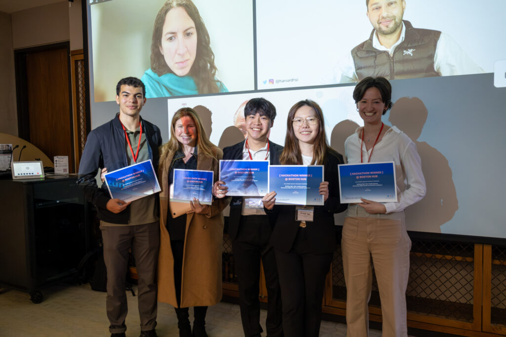
{"type": "MultiPolygon", "coordinates": [[[[219,160],[223,152],[211,149],[216,158],[197,151],[197,170],[214,171],[214,180],[219,177],[219,160]]],[[[158,301],[178,308],[174,285],[174,257],[171,238],[165,227],[172,220],[168,214],[168,172],[174,153],[162,158],[158,169],[160,192],[160,250],[158,254],[158,301]]],[[[223,209],[230,198],[213,200],[209,214],[188,213],[186,220],[183,270],[181,282],[181,307],[211,306],[222,298],[222,251],[223,209]]]]}

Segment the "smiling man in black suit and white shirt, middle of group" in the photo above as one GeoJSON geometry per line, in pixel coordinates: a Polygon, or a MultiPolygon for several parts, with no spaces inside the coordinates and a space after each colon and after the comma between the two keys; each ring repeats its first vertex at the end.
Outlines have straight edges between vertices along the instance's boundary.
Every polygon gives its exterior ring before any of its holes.
{"type": "MultiPolygon", "coordinates": [[[[251,99],[244,107],[247,138],[223,149],[224,160],[269,160],[279,165],[283,147],[268,139],[276,117],[274,105],[263,98],[251,99]]],[[[228,187],[217,181],[213,194],[226,197],[228,187]]],[[[274,222],[264,211],[262,197],[232,197],[228,234],[232,240],[235,271],[239,285],[241,320],[246,337],[260,337],[260,260],[264,266],[267,286],[267,336],[283,336],[281,324],[281,294],[278,271],[272,246],[269,245],[274,222]]]]}

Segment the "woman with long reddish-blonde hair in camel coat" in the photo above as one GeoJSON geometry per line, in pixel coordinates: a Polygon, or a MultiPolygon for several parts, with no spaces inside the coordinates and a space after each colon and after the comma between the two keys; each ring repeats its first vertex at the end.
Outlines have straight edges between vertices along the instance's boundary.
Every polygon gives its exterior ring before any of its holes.
{"type": "Polygon", "coordinates": [[[207,336],[207,306],[222,298],[222,211],[229,200],[201,205],[194,199],[188,211],[173,217],[170,185],[178,169],[214,171],[218,179],[222,151],[205,134],[193,109],[178,110],[171,123],[171,138],[163,145],[158,168],[160,193],[160,252],[158,301],[173,305],[180,336],[192,336],[188,307],[194,307],[193,336],[207,336]]]}

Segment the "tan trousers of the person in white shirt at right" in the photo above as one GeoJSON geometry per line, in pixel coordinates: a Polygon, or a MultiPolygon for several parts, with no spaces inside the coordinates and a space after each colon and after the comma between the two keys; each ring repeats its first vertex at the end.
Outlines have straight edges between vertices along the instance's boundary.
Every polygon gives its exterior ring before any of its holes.
{"type": "Polygon", "coordinates": [[[371,215],[351,205],[341,247],[347,288],[347,336],[368,335],[372,266],[381,299],[383,336],[407,336],[406,287],[411,240],[404,212],[371,215]]]}

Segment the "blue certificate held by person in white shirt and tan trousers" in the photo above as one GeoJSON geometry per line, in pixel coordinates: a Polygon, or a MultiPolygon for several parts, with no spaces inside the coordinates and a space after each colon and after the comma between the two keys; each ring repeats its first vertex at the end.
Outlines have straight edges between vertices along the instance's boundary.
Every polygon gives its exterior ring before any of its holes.
{"type": "Polygon", "coordinates": [[[396,202],[394,162],[339,165],[341,203],[396,202]]]}

